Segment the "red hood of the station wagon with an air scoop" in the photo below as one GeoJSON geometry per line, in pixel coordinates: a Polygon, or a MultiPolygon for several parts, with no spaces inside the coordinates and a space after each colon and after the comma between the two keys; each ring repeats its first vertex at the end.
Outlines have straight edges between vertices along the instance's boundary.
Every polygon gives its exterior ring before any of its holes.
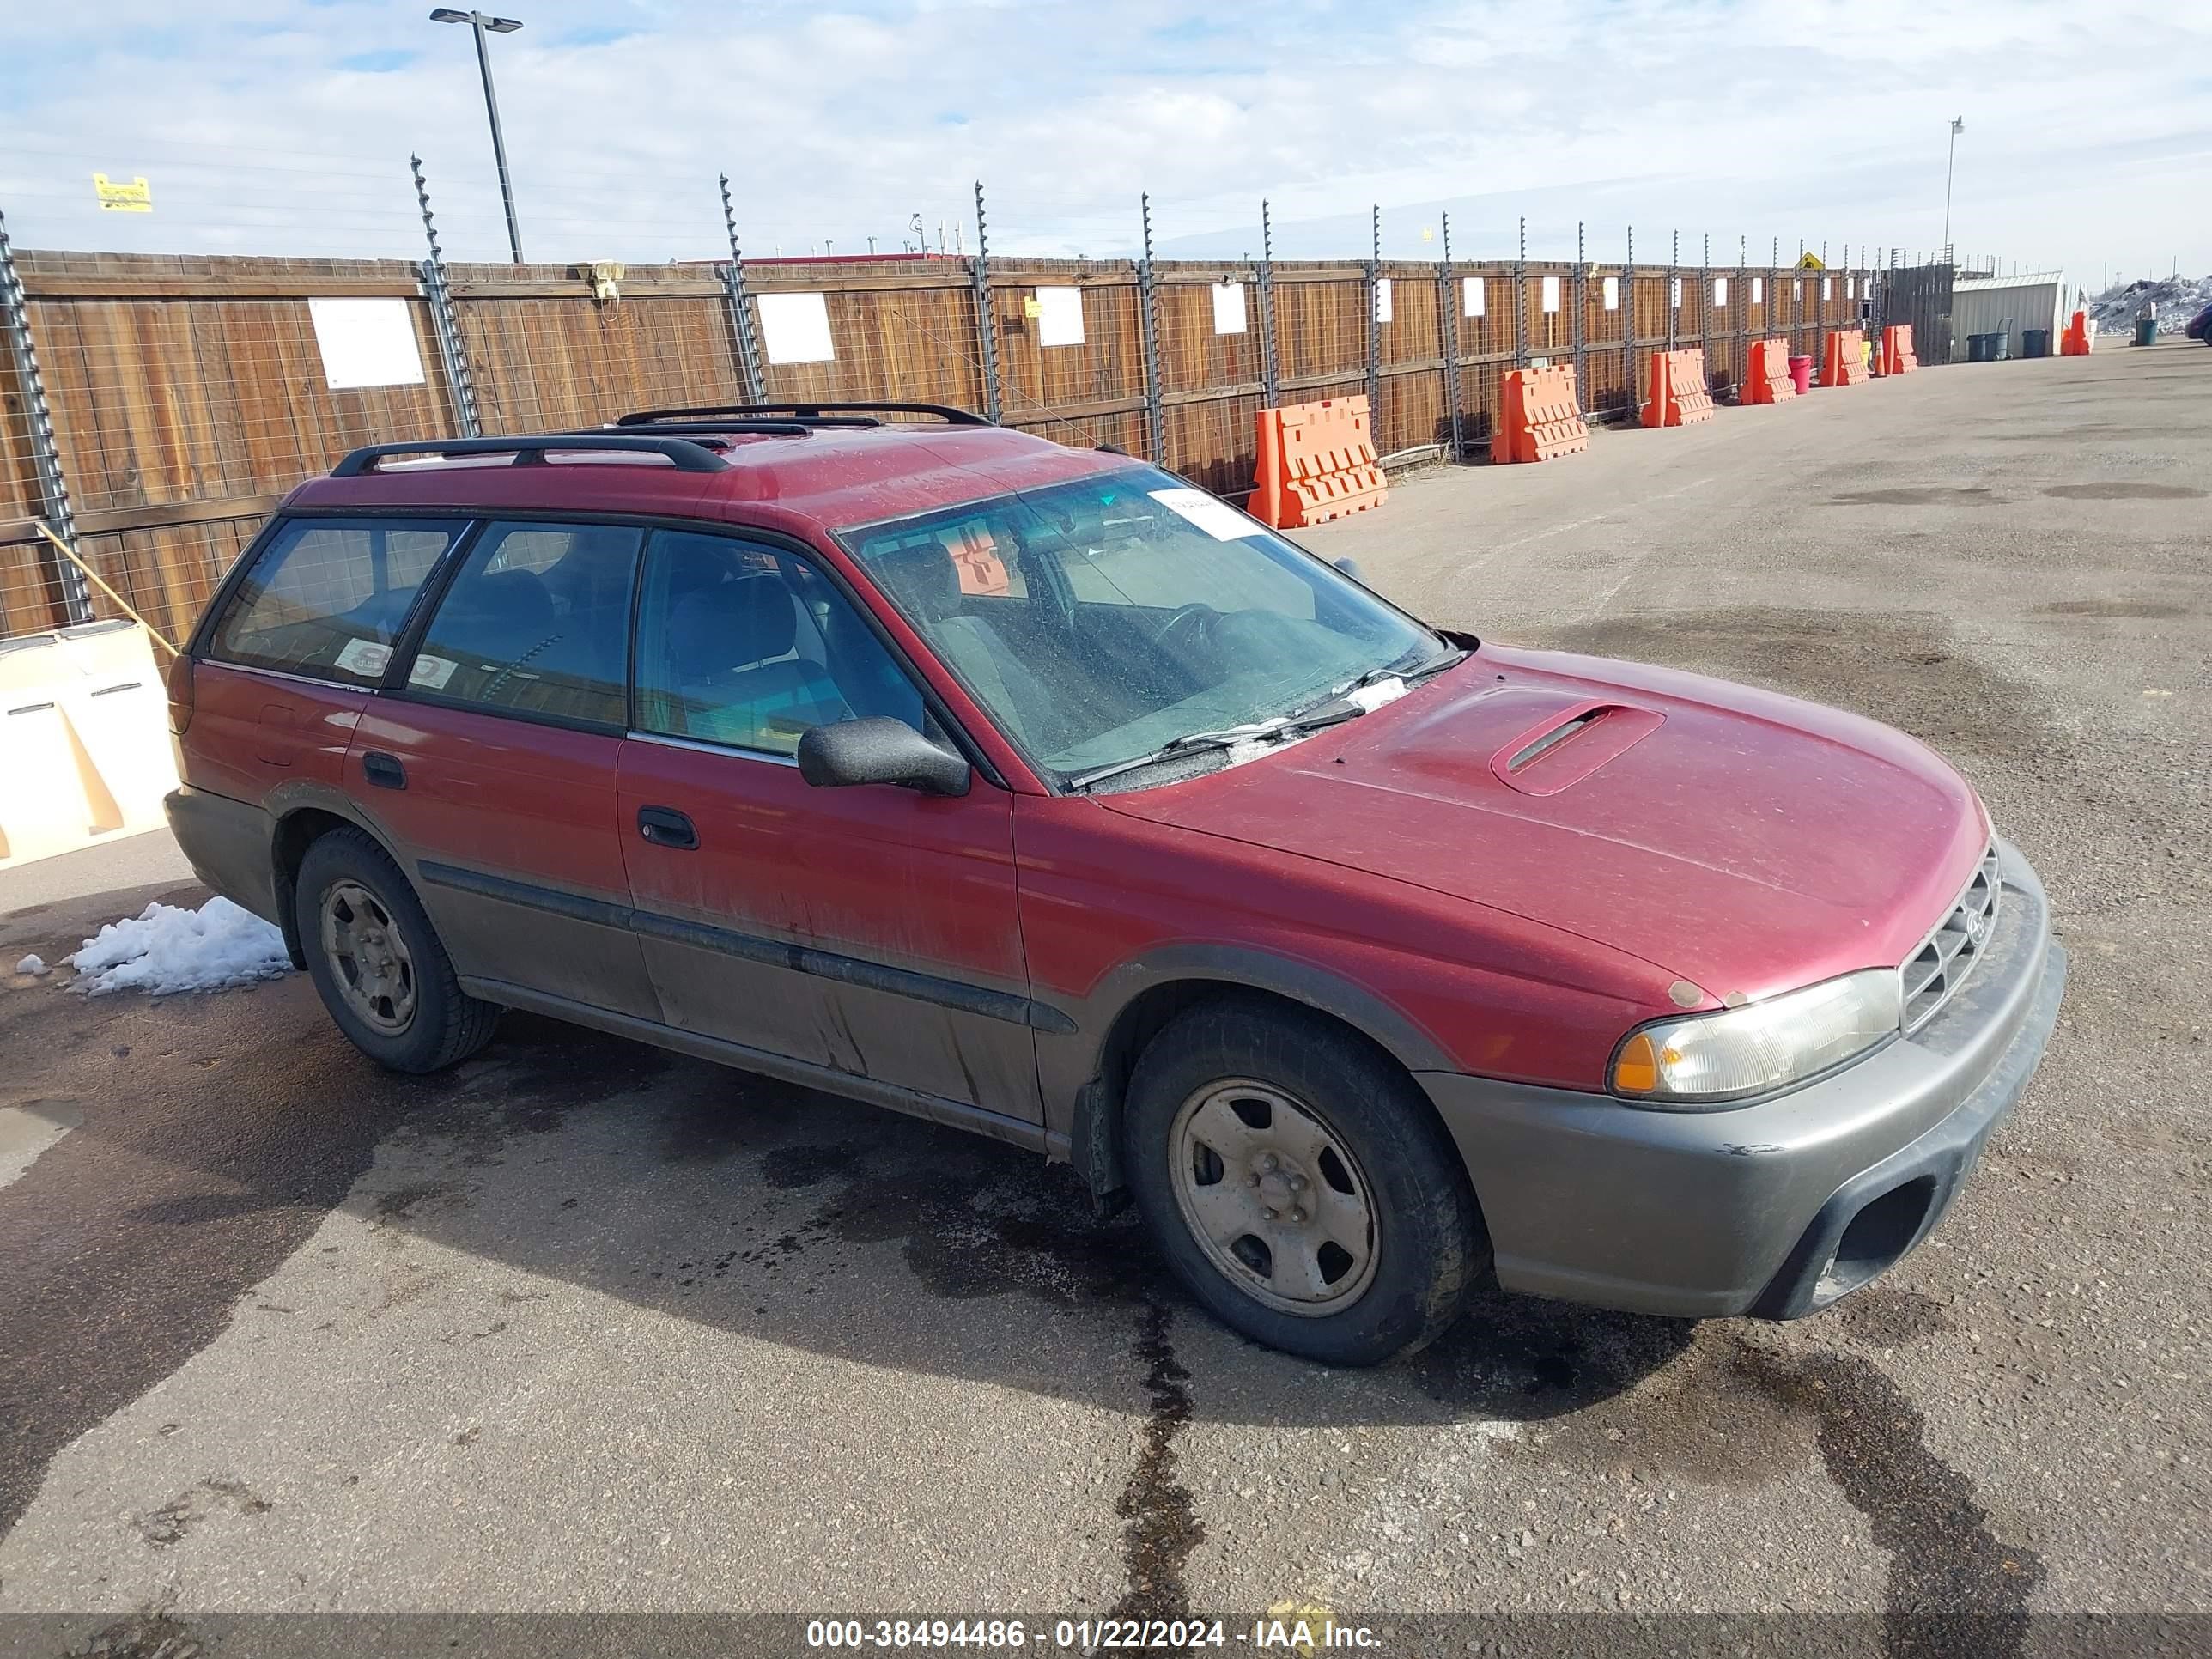
{"type": "Polygon", "coordinates": [[[1905,960],[1989,841],[1964,779],[1887,726],[1498,646],[1305,743],[1099,799],[1579,933],[1719,1000],[1905,960]]]}

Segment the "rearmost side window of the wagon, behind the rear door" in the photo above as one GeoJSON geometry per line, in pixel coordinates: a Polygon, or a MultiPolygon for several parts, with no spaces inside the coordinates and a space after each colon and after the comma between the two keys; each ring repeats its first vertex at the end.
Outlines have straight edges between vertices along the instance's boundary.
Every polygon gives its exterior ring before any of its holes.
{"type": "Polygon", "coordinates": [[[230,595],[210,655],[374,686],[422,577],[465,529],[467,520],[294,518],[230,595]]]}

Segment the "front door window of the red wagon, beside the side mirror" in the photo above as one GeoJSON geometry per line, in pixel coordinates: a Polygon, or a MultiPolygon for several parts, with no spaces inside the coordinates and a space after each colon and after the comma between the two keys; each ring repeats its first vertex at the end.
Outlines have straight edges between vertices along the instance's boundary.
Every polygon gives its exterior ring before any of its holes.
{"type": "MultiPolygon", "coordinates": [[[[969,582],[1009,586],[971,555],[969,582]]],[[[790,757],[810,726],[889,714],[933,732],[922,697],[812,564],[728,535],[655,531],[637,604],[637,730],[790,757]]]]}

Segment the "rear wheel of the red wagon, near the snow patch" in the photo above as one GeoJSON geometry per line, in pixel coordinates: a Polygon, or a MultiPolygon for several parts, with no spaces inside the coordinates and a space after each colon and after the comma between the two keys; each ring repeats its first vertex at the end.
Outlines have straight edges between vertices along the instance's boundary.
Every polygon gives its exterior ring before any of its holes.
{"type": "Polygon", "coordinates": [[[422,900],[392,854],[361,830],[332,830],[307,847],[292,916],[323,1006],[378,1066],[445,1071],[491,1042],[498,1004],[460,989],[422,900]],[[325,929],[334,900],[334,927],[325,929]]]}

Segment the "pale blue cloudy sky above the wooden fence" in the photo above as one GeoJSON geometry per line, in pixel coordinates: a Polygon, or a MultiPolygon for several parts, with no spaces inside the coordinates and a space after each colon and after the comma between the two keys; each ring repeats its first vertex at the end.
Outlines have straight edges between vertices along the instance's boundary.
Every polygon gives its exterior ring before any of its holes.
{"type": "MultiPolygon", "coordinates": [[[[0,212],[24,248],[502,259],[467,29],[429,0],[0,0],[0,212]],[[93,173],[146,177],[104,215],[93,173]]],[[[1933,248],[2095,285],[2212,268],[2203,0],[513,0],[493,40],[533,259],[896,250],[1683,259],[1712,237],[1933,248]],[[1427,232],[1427,234],[1425,234],[1427,232]]]]}

